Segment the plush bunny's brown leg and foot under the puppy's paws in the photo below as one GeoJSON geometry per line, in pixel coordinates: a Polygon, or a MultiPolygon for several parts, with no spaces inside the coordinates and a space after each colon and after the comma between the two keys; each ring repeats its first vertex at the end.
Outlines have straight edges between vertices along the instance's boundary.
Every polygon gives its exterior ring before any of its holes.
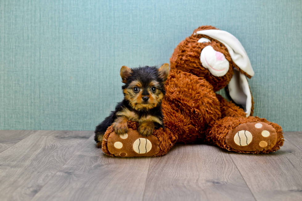
{"type": "Polygon", "coordinates": [[[157,129],[147,137],[138,134],[136,122],[129,121],[128,128],[127,134],[116,135],[113,127],[108,127],[101,145],[105,154],[120,157],[162,156],[177,141],[177,136],[167,128],[157,129]]]}

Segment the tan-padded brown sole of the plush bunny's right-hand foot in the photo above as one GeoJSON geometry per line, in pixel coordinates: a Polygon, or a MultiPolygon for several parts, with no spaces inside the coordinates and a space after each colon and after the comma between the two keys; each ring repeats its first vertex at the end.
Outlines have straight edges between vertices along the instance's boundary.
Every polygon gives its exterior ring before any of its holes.
{"type": "Polygon", "coordinates": [[[262,152],[275,146],[277,132],[264,122],[248,122],[235,127],[226,136],[226,143],[234,150],[262,152]]]}

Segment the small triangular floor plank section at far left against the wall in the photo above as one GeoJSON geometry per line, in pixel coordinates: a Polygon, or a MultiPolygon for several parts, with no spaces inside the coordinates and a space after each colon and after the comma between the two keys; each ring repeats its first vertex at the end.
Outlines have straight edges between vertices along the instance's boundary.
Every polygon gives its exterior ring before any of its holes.
{"type": "Polygon", "coordinates": [[[0,153],[37,131],[0,130],[0,153]]]}

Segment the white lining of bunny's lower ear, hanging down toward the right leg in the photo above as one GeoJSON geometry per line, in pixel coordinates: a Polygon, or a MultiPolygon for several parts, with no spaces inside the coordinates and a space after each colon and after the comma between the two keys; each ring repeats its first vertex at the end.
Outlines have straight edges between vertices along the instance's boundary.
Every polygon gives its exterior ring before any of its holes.
{"type": "Polygon", "coordinates": [[[251,114],[252,95],[247,82],[247,77],[234,68],[234,75],[227,85],[229,94],[235,103],[242,105],[247,117],[251,114]]]}

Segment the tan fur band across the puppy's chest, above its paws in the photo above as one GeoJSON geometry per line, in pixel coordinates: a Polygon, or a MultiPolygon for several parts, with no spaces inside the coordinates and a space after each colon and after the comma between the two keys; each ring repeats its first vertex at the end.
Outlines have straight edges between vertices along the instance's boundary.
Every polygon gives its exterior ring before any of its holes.
{"type": "Polygon", "coordinates": [[[143,122],[143,121],[153,121],[161,124],[161,120],[152,115],[143,115],[139,116],[136,112],[130,111],[128,108],[123,108],[121,111],[116,113],[117,116],[124,116],[130,121],[135,121],[135,122],[143,122]]]}

